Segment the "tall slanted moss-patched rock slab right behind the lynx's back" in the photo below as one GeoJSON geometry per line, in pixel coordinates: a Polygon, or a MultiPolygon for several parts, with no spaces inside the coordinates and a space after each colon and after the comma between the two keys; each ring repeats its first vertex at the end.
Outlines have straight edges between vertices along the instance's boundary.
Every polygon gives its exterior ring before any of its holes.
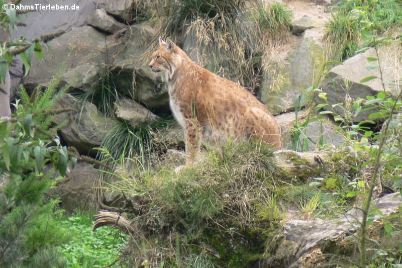
{"type": "Polygon", "coordinates": [[[263,73],[259,97],[271,113],[292,110],[294,98],[314,84],[323,58],[321,37],[308,29],[290,50],[270,59],[263,73]]]}

